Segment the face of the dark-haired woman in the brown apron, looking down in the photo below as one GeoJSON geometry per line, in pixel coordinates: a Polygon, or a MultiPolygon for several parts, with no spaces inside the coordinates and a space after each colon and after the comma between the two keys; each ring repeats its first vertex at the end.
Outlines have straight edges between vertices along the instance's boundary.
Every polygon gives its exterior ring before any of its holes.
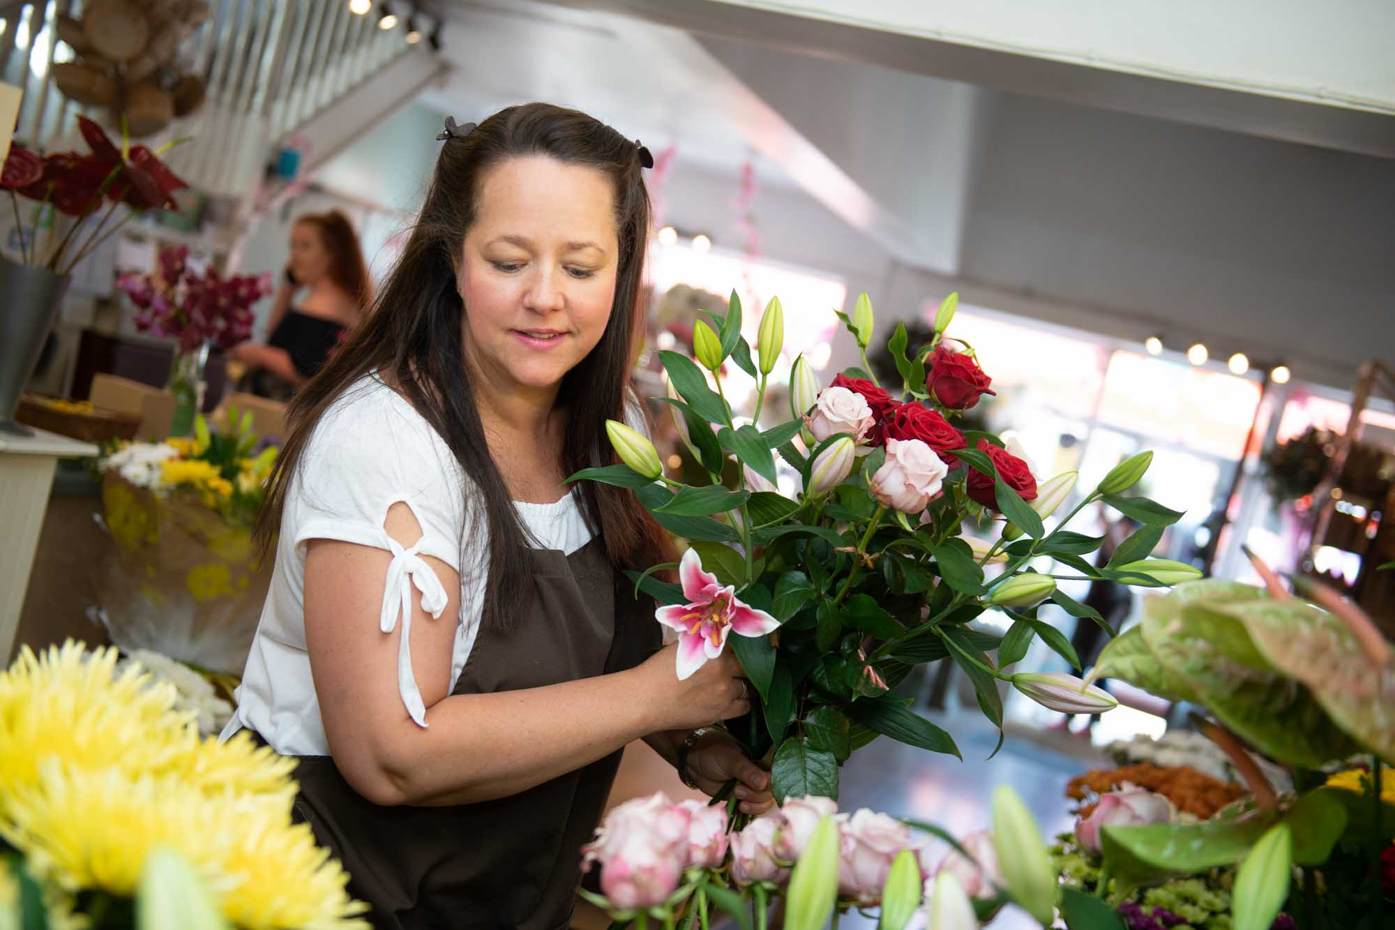
{"type": "Polygon", "coordinates": [[[456,282],[478,376],[494,388],[557,387],[605,332],[618,258],[601,172],[545,155],[487,172],[456,282]]]}

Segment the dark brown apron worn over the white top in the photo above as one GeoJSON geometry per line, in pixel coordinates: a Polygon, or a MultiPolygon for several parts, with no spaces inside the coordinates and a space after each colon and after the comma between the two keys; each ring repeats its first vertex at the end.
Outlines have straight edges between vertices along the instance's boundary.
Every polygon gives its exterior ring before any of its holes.
{"type": "MultiPolygon", "coordinates": [[[[601,540],[529,550],[536,585],[508,633],[481,630],[453,694],[531,688],[622,672],[661,645],[653,603],[611,568],[601,540]]],[[[328,755],[301,757],[296,814],[349,871],[375,927],[555,930],[568,926],[621,753],[511,797],[379,807],[328,755]]]]}

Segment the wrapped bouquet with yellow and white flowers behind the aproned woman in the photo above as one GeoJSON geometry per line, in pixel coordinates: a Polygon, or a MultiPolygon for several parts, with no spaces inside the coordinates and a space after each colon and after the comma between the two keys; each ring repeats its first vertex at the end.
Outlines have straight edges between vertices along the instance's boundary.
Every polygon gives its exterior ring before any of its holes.
{"type": "Polygon", "coordinates": [[[276,448],[258,448],[251,413],[213,433],[117,443],[98,461],[110,557],[93,616],[126,652],[152,649],[201,670],[240,674],[271,566],[251,528],[276,448]]]}

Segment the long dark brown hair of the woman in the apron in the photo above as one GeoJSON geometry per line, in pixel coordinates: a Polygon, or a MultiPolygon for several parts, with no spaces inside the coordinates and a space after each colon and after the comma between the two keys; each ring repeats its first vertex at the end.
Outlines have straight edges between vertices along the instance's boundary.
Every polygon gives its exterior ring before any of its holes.
{"type": "MultiPolygon", "coordinates": [[[[431,423],[451,448],[484,507],[467,507],[465,538],[488,531],[490,577],[484,620],[508,626],[531,588],[523,550],[525,529],[499,475],[476,409],[474,388],[462,352],[469,309],[456,290],[455,263],[476,218],[481,180],[495,165],[525,155],[547,155],[605,175],[614,191],[619,264],[615,299],[601,341],[562,377],[558,404],[566,405],[559,450],[565,473],[597,461],[617,461],[605,441],[605,420],[625,420],[632,397],[631,364],[642,334],[640,286],[649,237],[649,191],[639,149],[608,126],[578,110],[527,103],[499,110],[467,134],[452,134],[441,147],[421,214],[372,313],[350,342],[300,390],[290,405],[292,431],[285,444],[257,535],[269,547],[280,526],[286,490],[304,457],[315,425],[331,404],[359,378],[379,371],[431,423]],[[483,510],[483,512],[481,512],[483,510]],[[480,526],[477,521],[483,519],[480,526]]],[[[579,482],[573,490],[582,512],[604,540],[617,568],[647,568],[671,553],[667,533],[635,492],[579,482]]]]}

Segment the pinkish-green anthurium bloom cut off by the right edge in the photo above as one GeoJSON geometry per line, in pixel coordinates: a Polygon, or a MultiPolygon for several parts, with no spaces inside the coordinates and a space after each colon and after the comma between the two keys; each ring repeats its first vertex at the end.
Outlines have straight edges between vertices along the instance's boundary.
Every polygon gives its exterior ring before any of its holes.
{"type": "Polygon", "coordinates": [[[1243,624],[1260,652],[1302,681],[1336,726],[1395,758],[1395,655],[1377,665],[1341,620],[1304,600],[1250,600],[1216,607],[1243,624]]]}

